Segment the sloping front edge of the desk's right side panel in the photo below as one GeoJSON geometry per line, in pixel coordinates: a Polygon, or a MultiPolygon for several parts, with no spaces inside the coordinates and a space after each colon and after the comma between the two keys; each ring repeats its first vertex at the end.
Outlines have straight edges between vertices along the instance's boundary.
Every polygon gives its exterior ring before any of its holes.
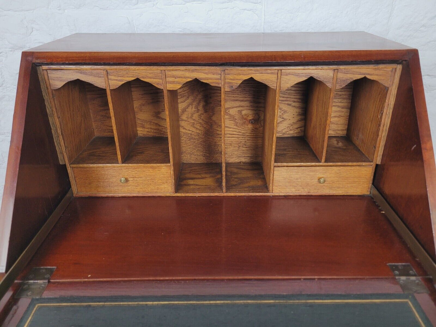
{"type": "Polygon", "coordinates": [[[430,133],[429,116],[427,113],[424,85],[422,83],[421,65],[418,50],[412,50],[409,60],[412,89],[415,100],[416,118],[418,120],[419,139],[421,140],[422,161],[426,176],[427,196],[429,199],[430,218],[433,227],[433,240],[436,246],[436,164],[430,133]]]}

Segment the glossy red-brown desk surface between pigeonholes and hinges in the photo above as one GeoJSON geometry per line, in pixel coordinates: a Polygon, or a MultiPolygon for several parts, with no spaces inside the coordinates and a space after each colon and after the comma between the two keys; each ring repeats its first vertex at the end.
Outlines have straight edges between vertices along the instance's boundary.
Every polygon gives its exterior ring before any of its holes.
{"type": "Polygon", "coordinates": [[[75,198],[29,263],[51,280],[390,277],[421,266],[369,197],[75,198]],[[341,210],[338,210],[341,208],[341,210]]]}

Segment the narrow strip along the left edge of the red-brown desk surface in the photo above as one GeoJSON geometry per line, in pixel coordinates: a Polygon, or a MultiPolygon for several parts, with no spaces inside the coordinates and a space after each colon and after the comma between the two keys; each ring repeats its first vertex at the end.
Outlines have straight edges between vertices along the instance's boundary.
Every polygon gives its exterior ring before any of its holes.
{"type": "Polygon", "coordinates": [[[47,219],[45,224],[41,227],[39,232],[35,235],[33,240],[27,245],[27,248],[21,253],[20,257],[14,263],[14,265],[9,269],[6,275],[0,282],[0,299],[6,294],[10,286],[12,286],[17,279],[20,272],[26,267],[27,263],[30,261],[32,256],[35,254],[39,246],[44,242],[48,233],[53,228],[54,224],[61,217],[62,213],[67,208],[68,204],[73,198],[73,192],[70,189],[62,201],[59,203],[58,207],[53,211],[50,217],[47,219]]]}

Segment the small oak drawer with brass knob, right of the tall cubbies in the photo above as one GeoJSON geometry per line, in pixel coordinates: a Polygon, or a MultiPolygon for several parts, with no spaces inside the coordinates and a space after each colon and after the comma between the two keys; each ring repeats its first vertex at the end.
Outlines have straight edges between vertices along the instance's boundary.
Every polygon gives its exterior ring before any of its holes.
{"type": "Polygon", "coordinates": [[[368,194],[372,167],[275,167],[274,193],[368,194]]]}

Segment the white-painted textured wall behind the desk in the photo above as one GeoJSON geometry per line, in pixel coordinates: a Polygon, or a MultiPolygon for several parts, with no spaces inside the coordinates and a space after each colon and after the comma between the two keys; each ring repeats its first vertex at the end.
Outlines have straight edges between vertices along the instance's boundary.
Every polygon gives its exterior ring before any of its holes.
{"type": "Polygon", "coordinates": [[[367,31],[418,48],[436,135],[435,0],[0,0],[0,201],[22,50],[76,32],[297,31],[367,31]]]}

